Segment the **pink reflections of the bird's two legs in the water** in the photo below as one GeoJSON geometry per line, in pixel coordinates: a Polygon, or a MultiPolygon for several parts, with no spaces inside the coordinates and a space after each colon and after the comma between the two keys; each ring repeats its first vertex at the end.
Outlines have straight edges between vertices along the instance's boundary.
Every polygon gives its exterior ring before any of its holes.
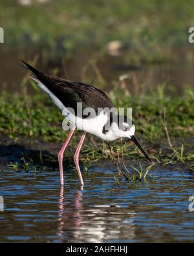
{"type": "Polygon", "coordinates": [[[77,231],[80,228],[80,224],[82,221],[81,218],[81,210],[83,208],[82,205],[82,195],[83,186],[80,187],[80,191],[76,191],[74,193],[74,205],[71,205],[71,207],[68,207],[67,211],[67,202],[65,200],[65,194],[64,194],[64,187],[61,186],[59,190],[59,204],[58,204],[58,229],[57,229],[57,235],[59,237],[59,240],[63,240],[63,232],[67,229],[72,229],[72,235],[73,239],[77,239],[77,231]],[[74,207],[72,207],[74,206],[74,207]]]}

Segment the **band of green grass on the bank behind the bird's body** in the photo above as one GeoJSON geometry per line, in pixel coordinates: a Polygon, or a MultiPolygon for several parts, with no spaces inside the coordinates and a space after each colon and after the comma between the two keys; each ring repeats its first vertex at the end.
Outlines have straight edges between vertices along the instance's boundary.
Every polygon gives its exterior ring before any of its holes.
{"type": "MultiPolygon", "coordinates": [[[[122,92],[121,92],[122,93],[122,92]]],[[[111,94],[113,97],[113,93],[111,94]]],[[[147,95],[120,97],[114,92],[114,104],[133,108],[136,133],[152,141],[166,137],[162,124],[162,113],[166,111],[166,124],[171,137],[193,135],[194,91],[186,89],[182,97],[162,95],[158,91],[147,95]],[[118,100],[122,99],[122,100],[118,100]]],[[[64,117],[44,93],[17,95],[3,93],[0,96],[0,132],[11,138],[19,135],[39,137],[43,141],[61,141],[67,134],[62,130],[64,117]]]]}

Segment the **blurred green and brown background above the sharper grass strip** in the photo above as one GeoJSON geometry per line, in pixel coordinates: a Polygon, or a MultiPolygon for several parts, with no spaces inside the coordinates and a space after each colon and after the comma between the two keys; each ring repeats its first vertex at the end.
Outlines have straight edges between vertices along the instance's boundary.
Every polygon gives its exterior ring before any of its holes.
{"type": "MultiPolygon", "coordinates": [[[[1,0],[1,91],[21,89],[21,59],[47,73],[129,93],[193,85],[193,1],[1,0]],[[125,76],[123,76],[125,75],[125,76]]],[[[28,89],[32,89],[29,87],[28,89]]]]}

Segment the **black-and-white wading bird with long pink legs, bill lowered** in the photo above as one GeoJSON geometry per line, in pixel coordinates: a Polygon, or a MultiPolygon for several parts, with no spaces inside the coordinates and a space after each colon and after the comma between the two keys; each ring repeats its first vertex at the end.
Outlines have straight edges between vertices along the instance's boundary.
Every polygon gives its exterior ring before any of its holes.
{"type": "Polygon", "coordinates": [[[64,185],[63,154],[76,128],[77,130],[83,131],[74,154],[74,163],[78,171],[81,186],[83,186],[83,178],[81,176],[79,156],[87,133],[96,135],[103,141],[110,142],[120,138],[124,138],[126,141],[133,141],[142,154],[152,162],[135,137],[134,122],[125,115],[119,115],[116,112],[113,102],[102,90],[89,84],[84,84],[83,82],[73,82],[48,75],[38,71],[38,69],[27,64],[24,60],[22,62],[25,64],[23,67],[26,67],[32,72],[30,78],[45,93],[48,93],[52,102],[58,106],[70,124],[69,135],[58,153],[61,186],[64,185]]]}

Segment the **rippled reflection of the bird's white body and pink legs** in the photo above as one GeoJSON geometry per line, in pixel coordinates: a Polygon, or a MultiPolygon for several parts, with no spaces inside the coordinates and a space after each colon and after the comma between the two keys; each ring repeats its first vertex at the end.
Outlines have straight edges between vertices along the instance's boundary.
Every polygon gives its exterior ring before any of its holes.
{"type": "MultiPolygon", "coordinates": [[[[61,187],[58,200],[57,235],[61,242],[104,242],[111,239],[133,240],[135,237],[135,211],[119,204],[105,203],[92,194],[92,207],[83,207],[83,191],[70,192],[61,187]]],[[[85,198],[86,200],[86,198],[85,198]]]]}

